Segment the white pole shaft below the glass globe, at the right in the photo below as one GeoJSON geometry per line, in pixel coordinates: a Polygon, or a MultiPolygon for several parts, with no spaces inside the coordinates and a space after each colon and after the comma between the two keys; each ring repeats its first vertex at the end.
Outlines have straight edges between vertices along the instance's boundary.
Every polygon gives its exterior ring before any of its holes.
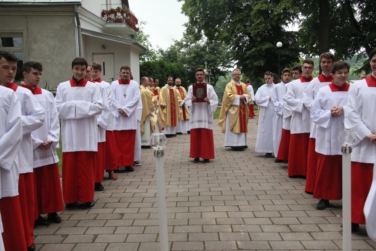
{"type": "Polygon", "coordinates": [[[342,249],[351,250],[351,147],[342,146],[342,249]]]}

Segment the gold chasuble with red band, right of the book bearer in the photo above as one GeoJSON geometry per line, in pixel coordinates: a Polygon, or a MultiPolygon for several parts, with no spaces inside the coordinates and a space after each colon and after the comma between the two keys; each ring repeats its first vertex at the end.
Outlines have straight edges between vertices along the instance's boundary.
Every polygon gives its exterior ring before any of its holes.
{"type": "Polygon", "coordinates": [[[251,95],[245,83],[240,82],[240,85],[237,85],[232,79],[231,82],[226,85],[219,117],[219,126],[222,129],[222,133],[226,132],[227,111],[229,116],[230,131],[236,134],[248,133],[248,104],[245,104],[242,100],[240,100],[239,106],[232,105],[237,95],[243,94],[248,95],[248,100],[251,99],[251,95]]]}

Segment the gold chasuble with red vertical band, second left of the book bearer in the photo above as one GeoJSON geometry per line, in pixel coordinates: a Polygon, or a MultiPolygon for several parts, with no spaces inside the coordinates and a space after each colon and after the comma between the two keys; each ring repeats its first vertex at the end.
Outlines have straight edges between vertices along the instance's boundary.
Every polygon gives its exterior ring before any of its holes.
{"type": "Polygon", "coordinates": [[[166,127],[176,127],[180,115],[179,102],[175,88],[168,88],[166,84],[160,89],[159,103],[164,105],[162,113],[166,127]]]}

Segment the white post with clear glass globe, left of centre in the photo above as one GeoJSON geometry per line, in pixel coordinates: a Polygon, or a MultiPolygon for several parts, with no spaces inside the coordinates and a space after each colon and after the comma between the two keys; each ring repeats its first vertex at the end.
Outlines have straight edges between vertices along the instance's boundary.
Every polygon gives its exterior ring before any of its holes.
{"type": "Polygon", "coordinates": [[[150,147],[154,149],[155,172],[157,176],[158,216],[159,216],[159,241],[160,250],[168,251],[167,235],[167,211],[166,192],[164,189],[164,148],[167,146],[167,139],[164,134],[152,134],[150,147]]]}

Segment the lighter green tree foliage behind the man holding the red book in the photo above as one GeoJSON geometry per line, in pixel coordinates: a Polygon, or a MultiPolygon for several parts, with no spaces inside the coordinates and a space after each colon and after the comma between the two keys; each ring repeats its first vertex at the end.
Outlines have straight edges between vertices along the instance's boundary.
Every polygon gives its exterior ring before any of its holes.
{"type": "Polygon", "coordinates": [[[195,70],[199,67],[211,69],[211,84],[216,85],[220,76],[226,76],[233,61],[228,48],[223,42],[195,41],[184,34],[180,41],[174,41],[167,50],[160,51],[162,58],[168,62],[180,62],[188,71],[189,82],[196,82],[195,70]]]}

